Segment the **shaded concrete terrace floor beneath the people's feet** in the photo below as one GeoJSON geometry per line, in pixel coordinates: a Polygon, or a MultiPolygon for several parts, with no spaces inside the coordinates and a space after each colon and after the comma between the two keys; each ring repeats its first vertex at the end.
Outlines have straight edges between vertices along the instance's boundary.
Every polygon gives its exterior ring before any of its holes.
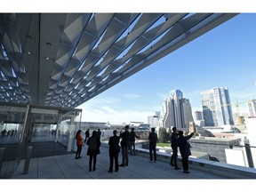
{"type": "MultiPolygon", "coordinates": [[[[22,174],[24,161],[20,162],[18,170],[13,173],[12,179],[228,179],[223,176],[189,169],[190,173],[174,170],[166,162],[149,162],[149,156],[130,156],[129,166],[120,167],[119,172],[108,172],[109,159],[108,147],[100,147],[100,155],[97,157],[96,171],[89,172],[89,156],[86,156],[87,146],[82,149],[82,158],[75,159],[75,154],[61,156],[47,156],[32,158],[30,160],[28,174],[22,174]]],[[[119,154],[119,164],[122,161],[119,154]]],[[[181,166],[181,164],[180,164],[181,166]]]]}

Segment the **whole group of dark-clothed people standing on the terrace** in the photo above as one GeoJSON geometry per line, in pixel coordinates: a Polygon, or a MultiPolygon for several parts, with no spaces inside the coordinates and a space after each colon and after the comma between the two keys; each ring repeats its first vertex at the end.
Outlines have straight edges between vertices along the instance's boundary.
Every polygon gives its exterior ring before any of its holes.
{"type": "MultiPolygon", "coordinates": [[[[88,145],[87,156],[89,156],[89,171],[96,170],[97,155],[100,154],[100,129],[98,132],[93,131],[90,137],[89,129],[85,132],[85,140],[83,142],[83,137],[81,135],[82,131],[78,130],[76,132],[76,159],[82,158],[81,151],[84,143],[88,145]]],[[[180,156],[182,158],[183,172],[188,172],[188,156],[191,156],[190,146],[188,140],[193,137],[194,132],[188,136],[184,136],[182,131],[178,131],[176,127],[172,127],[172,156],[170,164],[174,166],[175,170],[180,170],[181,168],[177,164],[178,158],[178,148],[180,148],[180,156]]],[[[108,155],[109,155],[109,169],[108,172],[113,172],[114,163],[115,171],[118,172],[119,167],[128,166],[129,164],[129,148],[131,156],[135,156],[135,140],[140,138],[134,132],[134,128],[129,132],[129,125],[125,125],[124,132],[120,132],[120,136],[117,136],[117,131],[113,131],[113,136],[108,140],[108,155]],[[120,142],[120,139],[121,142],[120,142]],[[121,146],[119,145],[121,144],[121,146]],[[118,155],[122,151],[122,163],[118,164],[118,155]]],[[[156,129],[151,128],[151,132],[148,134],[148,145],[149,145],[149,159],[150,163],[156,162],[156,142],[158,140],[156,129]]]]}

